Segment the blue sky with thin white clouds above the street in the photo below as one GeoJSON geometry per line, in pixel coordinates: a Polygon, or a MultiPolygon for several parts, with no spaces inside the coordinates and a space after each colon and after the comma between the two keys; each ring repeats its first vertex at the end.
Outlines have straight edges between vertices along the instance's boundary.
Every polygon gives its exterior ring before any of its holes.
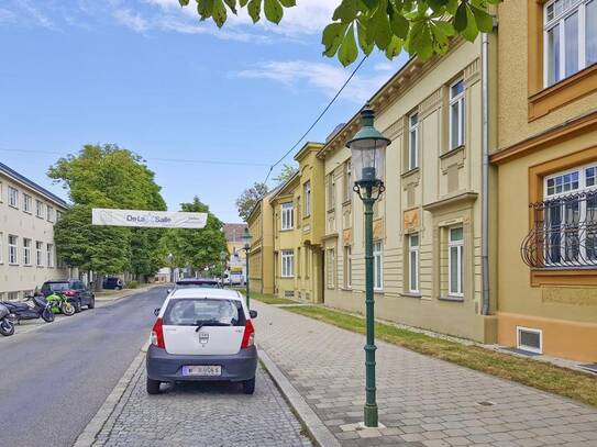
{"type": "MultiPolygon", "coordinates": [[[[240,13],[218,30],[194,1],[0,0],[0,161],[67,199],[47,168],[114,143],[146,159],[170,211],[198,195],[240,222],[235,199],[354,69],[321,55],[338,4],[297,0],[278,26],[240,13]]],[[[372,55],[307,139],[324,141],[405,60],[372,55]]]]}

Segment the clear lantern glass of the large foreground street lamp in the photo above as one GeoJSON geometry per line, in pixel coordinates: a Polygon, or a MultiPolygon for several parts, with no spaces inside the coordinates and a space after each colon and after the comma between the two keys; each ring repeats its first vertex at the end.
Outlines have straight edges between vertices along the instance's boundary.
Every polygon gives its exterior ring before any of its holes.
{"type": "Polygon", "coordinates": [[[387,142],[385,139],[357,139],[351,142],[353,178],[356,182],[382,180],[387,142]]]}

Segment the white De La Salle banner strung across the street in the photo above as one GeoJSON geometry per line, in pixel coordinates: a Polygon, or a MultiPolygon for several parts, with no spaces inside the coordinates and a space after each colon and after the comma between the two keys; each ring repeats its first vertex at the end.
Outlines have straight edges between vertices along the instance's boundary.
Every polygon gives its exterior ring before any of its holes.
{"type": "Polygon", "coordinates": [[[207,213],[170,211],[111,210],[95,208],[91,223],[109,226],[144,226],[148,228],[203,228],[207,213]]]}

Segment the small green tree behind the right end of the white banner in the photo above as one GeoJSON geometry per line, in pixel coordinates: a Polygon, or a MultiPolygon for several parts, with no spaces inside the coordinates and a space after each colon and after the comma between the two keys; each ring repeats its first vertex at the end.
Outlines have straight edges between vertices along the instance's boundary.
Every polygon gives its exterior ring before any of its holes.
{"type": "Polygon", "coordinates": [[[190,203],[181,203],[180,211],[208,213],[206,226],[201,230],[175,228],[165,236],[166,249],[173,254],[178,265],[192,267],[195,271],[217,268],[220,253],[226,252],[226,238],[222,231],[223,223],[198,197],[190,203]]]}

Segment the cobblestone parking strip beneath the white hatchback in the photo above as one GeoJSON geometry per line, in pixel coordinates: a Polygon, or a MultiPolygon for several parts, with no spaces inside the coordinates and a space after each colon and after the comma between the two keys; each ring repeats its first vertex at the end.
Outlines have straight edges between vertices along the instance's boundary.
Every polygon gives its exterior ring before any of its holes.
{"type": "Polygon", "coordinates": [[[93,446],[311,446],[300,429],[261,367],[253,395],[225,383],[185,383],[150,396],[143,362],[93,446]]]}

